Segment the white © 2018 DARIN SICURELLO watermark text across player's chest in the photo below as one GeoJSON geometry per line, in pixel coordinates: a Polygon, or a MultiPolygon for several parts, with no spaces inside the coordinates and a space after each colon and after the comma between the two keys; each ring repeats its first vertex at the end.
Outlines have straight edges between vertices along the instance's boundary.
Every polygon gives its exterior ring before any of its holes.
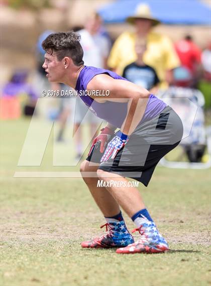
{"type": "Polygon", "coordinates": [[[76,97],[76,96],[79,96],[79,97],[83,97],[83,96],[85,96],[85,97],[91,97],[91,96],[108,97],[109,94],[110,94],[109,89],[107,89],[107,90],[99,90],[99,89],[96,89],[96,90],[79,90],[79,91],[76,91],[74,89],[68,89],[68,90],[48,89],[48,90],[42,91],[43,97],[65,97],[65,98],[76,97]]]}

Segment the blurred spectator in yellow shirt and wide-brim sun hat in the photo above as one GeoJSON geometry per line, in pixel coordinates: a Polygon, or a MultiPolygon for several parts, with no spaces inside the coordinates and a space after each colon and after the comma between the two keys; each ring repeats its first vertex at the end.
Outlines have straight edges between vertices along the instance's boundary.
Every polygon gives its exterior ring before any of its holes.
{"type": "Polygon", "coordinates": [[[135,26],[135,32],[124,32],[116,40],[109,56],[109,67],[122,74],[125,66],[137,59],[136,40],[146,39],[147,50],[143,60],[156,70],[161,81],[160,87],[166,88],[167,82],[172,82],[172,70],[179,66],[179,59],[171,40],[152,31],[160,22],[151,15],[146,4],[140,4],[135,15],[127,18],[127,21],[135,26]]]}

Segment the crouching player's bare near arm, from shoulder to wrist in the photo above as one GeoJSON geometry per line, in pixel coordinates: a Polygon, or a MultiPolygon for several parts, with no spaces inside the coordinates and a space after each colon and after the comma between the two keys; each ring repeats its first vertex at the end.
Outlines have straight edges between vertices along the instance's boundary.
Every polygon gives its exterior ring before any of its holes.
{"type": "MultiPolygon", "coordinates": [[[[141,121],[149,98],[149,91],[130,81],[114,79],[107,74],[94,76],[87,84],[87,90],[109,90],[108,97],[92,96],[97,102],[112,101],[128,103],[128,113],[121,127],[121,132],[131,135],[141,121]]],[[[117,114],[117,116],[119,116],[117,114]]]]}

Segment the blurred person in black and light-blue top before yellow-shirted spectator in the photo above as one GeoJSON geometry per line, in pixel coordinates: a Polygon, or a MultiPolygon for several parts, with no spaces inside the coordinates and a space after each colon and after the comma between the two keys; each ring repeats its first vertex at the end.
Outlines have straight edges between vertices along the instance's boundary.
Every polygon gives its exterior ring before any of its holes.
{"type": "Polygon", "coordinates": [[[146,41],[137,39],[135,44],[137,60],[125,67],[123,77],[137,85],[141,85],[142,87],[150,90],[152,93],[156,93],[156,87],[160,80],[154,68],[144,63],[143,55],[146,49],[146,41]]]}

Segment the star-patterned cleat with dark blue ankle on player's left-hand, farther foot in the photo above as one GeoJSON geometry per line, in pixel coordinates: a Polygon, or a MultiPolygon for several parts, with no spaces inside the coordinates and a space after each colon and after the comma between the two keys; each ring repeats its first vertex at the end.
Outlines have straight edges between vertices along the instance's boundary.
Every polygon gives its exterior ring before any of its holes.
{"type": "Polygon", "coordinates": [[[106,227],[107,233],[89,241],[83,241],[83,248],[112,248],[125,247],[134,242],[133,236],[128,232],[125,222],[112,222],[102,225],[106,227]]]}

